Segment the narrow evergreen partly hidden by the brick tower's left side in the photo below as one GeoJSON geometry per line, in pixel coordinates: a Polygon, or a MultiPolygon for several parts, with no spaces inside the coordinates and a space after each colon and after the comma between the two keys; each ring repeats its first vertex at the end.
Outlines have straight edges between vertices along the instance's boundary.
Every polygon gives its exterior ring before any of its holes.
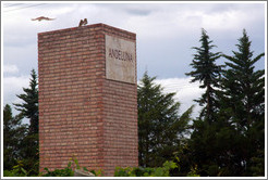
{"type": "Polygon", "coordinates": [[[35,70],[31,74],[29,88],[23,88],[24,93],[19,94],[23,102],[21,104],[14,104],[21,115],[25,118],[29,118],[29,128],[27,134],[24,138],[21,150],[23,158],[24,169],[29,175],[38,173],[39,155],[38,155],[38,88],[37,88],[37,75],[35,70]]]}

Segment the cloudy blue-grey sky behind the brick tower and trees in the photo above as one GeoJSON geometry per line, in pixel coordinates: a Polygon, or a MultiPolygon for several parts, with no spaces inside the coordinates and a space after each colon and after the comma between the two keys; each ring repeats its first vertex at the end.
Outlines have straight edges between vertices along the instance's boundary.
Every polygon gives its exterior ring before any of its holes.
{"type": "MultiPolygon", "coordinates": [[[[183,113],[195,104],[204,92],[198,82],[190,83],[185,73],[195,50],[200,47],[205,28],[217,48],[214,52],[232,55],[235,44],[246,29],[254,56],[265,52],[266,4],[264,2],[4,2],[1,1],[2,87],[3,105],[21,102],[15,94],[28,87],[31,69],[37,70],[37,34],[78,26],[83,18],[88,24],[103,23],[136,34],[137,79],[145,70],[157,76],[165,92],[176,92],[183,113]],[[54,21],[37,22],[32,18],[48,16],[54,21]]],[[[218,60],[223,64],[224,59],[218,60]]],[[[265,68],[265,59],[256,64],[265,68]]],[[[193,116],[198,115],[195,104],[193,116]]],[[[17,112],[14,111],[14,114],[17,112]]]]}

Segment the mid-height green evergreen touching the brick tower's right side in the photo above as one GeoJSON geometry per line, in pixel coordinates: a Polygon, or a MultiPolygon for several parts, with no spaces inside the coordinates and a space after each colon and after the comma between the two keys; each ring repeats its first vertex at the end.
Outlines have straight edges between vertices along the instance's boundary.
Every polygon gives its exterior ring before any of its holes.
{"type": "Polygon", "coordinates": [[[180,116],[175,94],[165,94],[161,86],[154,82],[155,79],[146,72],[137,89],[138,158],[144,167],[158,167],[173,157],[187,133],[193,108],[180,116]]]}

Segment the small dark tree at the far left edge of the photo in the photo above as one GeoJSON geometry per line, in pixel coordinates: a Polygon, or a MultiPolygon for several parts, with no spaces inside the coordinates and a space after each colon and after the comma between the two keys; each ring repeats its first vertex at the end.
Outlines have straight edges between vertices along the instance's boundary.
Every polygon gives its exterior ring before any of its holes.
{"type": "Polygon", "coordinates": [[[13,117],[9,104],[3,108],[3,169],[11,170],[20,159],[20,149],[25,137],[25,126],[21,125],[22,116],[13,117]]]}

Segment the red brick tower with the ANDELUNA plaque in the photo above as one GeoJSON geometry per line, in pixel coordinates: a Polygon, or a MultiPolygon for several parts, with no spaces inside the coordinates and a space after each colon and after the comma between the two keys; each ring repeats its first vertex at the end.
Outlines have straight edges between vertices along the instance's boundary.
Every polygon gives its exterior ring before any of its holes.
{"type": "Polygon", "coordinates": [[[136,35],[105,24],[38,34],[40,171],[138,165],[136,35]]]}

